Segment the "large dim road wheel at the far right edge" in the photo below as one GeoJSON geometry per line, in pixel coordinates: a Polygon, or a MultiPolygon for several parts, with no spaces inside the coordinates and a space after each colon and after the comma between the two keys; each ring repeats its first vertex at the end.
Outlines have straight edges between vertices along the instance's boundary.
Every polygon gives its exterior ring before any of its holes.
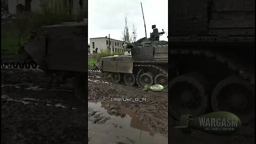
{"type": "Polygon", "coordinates": [[[229,76],[218,83],[212,92],[212,109],[230,111],[243,124],[254,118],[254,86],[238,76],[229,76]]]}

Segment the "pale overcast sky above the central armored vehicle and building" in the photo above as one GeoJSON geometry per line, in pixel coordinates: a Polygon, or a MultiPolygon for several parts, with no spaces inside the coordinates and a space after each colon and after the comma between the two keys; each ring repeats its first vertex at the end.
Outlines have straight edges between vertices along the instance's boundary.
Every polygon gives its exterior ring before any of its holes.
{"type": "MultiPolygon", "coordinates": [[[[147,37],[153,32],[151,26],[156,25],[158,31],[164,29],[165,34],[160,36],[161,41],[168,41],[168,1],[167,0],[88,0],[88,36],[105,37],[122,40],[124,17],[127,14],[129,33],[132,33],[133,24],[137,28],[137,39],[145,37],[145,28],[141,5],[145,17],[147,37]]],[[[88,38],[88,43],[90,39],[88,38]]]]}

